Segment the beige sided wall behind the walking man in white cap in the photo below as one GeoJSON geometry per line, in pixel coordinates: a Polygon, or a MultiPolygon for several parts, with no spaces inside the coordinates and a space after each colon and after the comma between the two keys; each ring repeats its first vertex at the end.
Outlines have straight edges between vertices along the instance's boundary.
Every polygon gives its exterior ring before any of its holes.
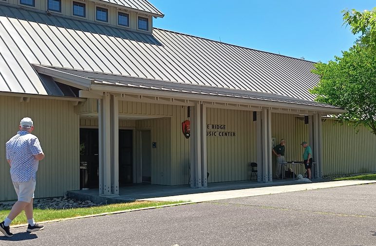
{"type": "Polygon", "coordinates": [[[0,96],[0,201],[17,199],[5,159],[4,143],[16,134],[19,121],[29,116],[35,124],[46,158],[39,164],[36,197],[62,196],[79,189],[78,115],[69,101],[0,96]]]}

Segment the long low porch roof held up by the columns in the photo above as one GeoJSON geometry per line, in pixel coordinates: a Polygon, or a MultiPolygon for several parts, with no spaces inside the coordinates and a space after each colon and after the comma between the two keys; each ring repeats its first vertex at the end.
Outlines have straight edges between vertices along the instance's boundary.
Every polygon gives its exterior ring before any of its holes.
{"type": "Polygon", "coordinates": [[[310,100],[297,99],[271,93],[219,88],[205,85],[192,85],[164,80],[105,74],[92,71],[34,65],[40,75],[51,76],[58,81],[66,81],[82,90],[111,92],[120,94],[139,94],[168,96],[200,101],[220,101],[245,103],[281,108],[317,110],[321,112],[341,113],[342,109],[310,100]],[[131,90],[130,90],[131,89],[131,90]]]}

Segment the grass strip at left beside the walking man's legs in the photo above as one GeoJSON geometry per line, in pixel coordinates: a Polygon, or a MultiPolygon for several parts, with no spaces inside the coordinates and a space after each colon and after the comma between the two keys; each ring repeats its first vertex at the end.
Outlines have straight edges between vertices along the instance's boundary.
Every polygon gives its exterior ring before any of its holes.
{"type": "MultiPolygon", "coordinates": [[[[65,219],[65,218],[74,218],[78,216],[100,214],[106,212],[115,212],[122,210],[131,210],[137,208],[148,208],[169,204],[176,204],[181,202],[149,202],[149,201],[140,201],[140,202],[131,202],[131,203],[119,203],[119,204],[110,204],[102,205],[97,207],[90,208],[67,208],[67,209],[34,209],[34,219],[37,222],[65,219]]],[[[0,210],[0,218],[5,218],[10,210],[0,210]]],[[[21,212],[19,216],[12,222],[12,225],[19,225],[27,223],[25,212],[21,212]]]]}

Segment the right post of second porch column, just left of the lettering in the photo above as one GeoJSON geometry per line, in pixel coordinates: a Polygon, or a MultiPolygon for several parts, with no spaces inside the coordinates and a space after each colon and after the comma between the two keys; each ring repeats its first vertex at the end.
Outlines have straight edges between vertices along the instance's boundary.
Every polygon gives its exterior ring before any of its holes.
{"type": "Polygon", "coordinates": [[[207,187],[207,106],[201,104],[201,181],[207,187]]]}

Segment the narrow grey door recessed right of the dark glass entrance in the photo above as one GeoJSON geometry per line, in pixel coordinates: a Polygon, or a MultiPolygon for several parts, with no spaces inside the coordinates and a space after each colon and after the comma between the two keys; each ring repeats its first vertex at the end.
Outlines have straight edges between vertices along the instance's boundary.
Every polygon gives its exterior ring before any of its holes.
{"type": "Polygon", "coordinates": [[[151,183],[151,133],[141,131],[141,182],[151,183]]]}

